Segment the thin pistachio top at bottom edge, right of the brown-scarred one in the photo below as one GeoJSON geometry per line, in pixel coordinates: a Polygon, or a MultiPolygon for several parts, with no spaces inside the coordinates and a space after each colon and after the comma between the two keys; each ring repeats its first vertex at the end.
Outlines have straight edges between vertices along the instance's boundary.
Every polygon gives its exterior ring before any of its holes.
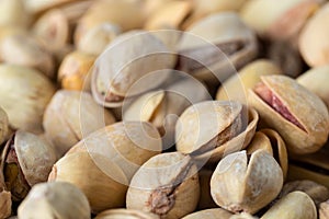
{"type": "Polygon", "coordinates": [[[232,216],[231,212],[224,210],[222,208],[212,208],[206,210],[196,211],[190,214],[182,219],[198,219],[198,218],[208,218],[208,219],[230,219],[232,216]]]}

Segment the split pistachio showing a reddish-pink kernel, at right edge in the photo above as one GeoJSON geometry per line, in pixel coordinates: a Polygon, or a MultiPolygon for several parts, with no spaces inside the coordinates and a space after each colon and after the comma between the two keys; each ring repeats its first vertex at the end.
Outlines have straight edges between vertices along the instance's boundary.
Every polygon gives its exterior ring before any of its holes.
{"type": "Polygon", "coordinates": [[[288,152],[311,153],[327,141],[329,114],[326,105],[294,79],[261,77],[261,82],[249,90],[248,100],[261,120],[281,135],[288,152]]]}

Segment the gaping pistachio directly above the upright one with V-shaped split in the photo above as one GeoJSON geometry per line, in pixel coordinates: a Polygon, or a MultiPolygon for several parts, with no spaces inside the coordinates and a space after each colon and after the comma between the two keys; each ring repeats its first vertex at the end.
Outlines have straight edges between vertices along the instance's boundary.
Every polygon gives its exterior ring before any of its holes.
{"type": "Polygon", "coordinates": [[[234,101],[205,101],[188,107],[175,126],[177,150],[200,161],[217,162],[246,148],[258,122],[254,110],[247,114],[234,101]]]}

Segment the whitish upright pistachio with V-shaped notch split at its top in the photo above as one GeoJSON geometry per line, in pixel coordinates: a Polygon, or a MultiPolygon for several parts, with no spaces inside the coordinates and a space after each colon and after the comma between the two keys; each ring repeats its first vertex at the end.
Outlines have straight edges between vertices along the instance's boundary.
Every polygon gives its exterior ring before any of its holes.
{"type": "Polygon", "coordinates": [[[215,203],[232,212],[254,214],[280,193],[283,174],[275,159],[265,150],[228,154],[219,161],[211,180],[215,203]]]}

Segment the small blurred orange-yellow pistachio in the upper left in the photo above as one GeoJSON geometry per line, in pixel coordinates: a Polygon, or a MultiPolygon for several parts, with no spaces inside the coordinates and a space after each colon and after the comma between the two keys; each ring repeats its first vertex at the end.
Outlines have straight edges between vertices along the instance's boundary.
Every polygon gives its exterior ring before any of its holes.
{"type": "Polygon", "coordinates": [[[64,57],[58,69],[58,81],[63,89],[90,91],[90,69],[95,56],[75,50],[64,57]]]}

